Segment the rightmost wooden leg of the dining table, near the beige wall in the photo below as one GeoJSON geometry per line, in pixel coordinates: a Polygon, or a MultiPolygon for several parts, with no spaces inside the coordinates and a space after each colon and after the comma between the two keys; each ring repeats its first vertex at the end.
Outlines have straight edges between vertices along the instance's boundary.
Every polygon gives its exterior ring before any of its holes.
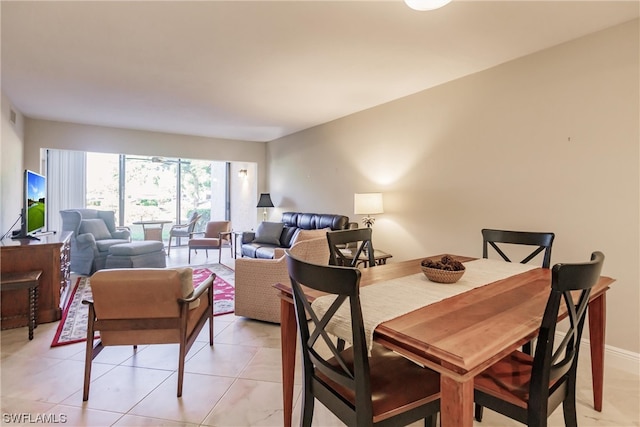
{"type": "Polygon", "coordinates": [[[589,302],[589,339],[591,341],[591,376],[593,381],[593,407],[602,412],[604,388],[604,335],[606,329],[605,293],[589,302]]]}

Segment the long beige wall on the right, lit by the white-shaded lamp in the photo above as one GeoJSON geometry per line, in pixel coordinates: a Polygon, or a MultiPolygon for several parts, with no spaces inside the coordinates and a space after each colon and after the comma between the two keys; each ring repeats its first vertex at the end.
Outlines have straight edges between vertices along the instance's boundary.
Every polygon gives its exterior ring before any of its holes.
{"type": "MultiPolygon", "coordinates": [[[[606,255],[607,343],[638,353],[638,21],[269,143],[277,211],[353,215],[381,191],[393,261],[481,256],[483,227],[553,231],[552,262],[606,255]]],[[[361,218],[358,217],[358,220],[361,218]]]]}

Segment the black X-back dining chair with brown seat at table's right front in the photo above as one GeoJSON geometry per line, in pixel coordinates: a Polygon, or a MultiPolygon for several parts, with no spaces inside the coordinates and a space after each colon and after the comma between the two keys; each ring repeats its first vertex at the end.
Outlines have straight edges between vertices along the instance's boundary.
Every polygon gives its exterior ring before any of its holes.
{"type": "Polygon", "coordinates": [[[529,427],[546,426],[547,417],[562,404],[565,425],[578,425],[578,351],[589,293],[598,282],[603,262],[604,255],[594,252],[589,262],[553,266],[551,293],[538,332],[535,355],[514,351],[476,376],[474,400],[477,404],[529,427]],[[556,330],[562,304],[569,318],[568,329],[563,333],[556,330]],[[559,336],[562,339],[558,340],[559,336]]]}

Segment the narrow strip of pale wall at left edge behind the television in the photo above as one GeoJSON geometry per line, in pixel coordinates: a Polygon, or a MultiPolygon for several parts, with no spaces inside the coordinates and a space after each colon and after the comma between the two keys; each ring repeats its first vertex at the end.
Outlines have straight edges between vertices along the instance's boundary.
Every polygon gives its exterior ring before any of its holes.
{"type": "MultiPolygon", "coordinates": [[[[2,93],[2,117],[0,119],[0,236],[20,217],[22,209],[24,119],[2,93]],[[11,110],[16,114],[15,124],[9,119],[11,110]]],[[[39,171],[39,163],[33,171],[39,171]]],[[[16,225],[20,228],[20,222],[16,225]]],[[[15,228],[15,227],[14,227],[15,228]]],[[[17,229],[16,228],[16,229],[17,229]]]]}

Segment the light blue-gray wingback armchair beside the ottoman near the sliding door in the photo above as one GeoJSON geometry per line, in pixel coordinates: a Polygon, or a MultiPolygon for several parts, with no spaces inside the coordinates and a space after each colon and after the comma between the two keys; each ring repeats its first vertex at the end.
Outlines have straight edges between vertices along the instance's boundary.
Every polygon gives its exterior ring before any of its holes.
{"type": "Polygon", "coordinates": [[[131,241],[128,229],[116,227],[112,211],[68,209],[60,211],[62,230],[71,236],[71,271],[90,275],[104,268],[109,248],[131,241]]]}

